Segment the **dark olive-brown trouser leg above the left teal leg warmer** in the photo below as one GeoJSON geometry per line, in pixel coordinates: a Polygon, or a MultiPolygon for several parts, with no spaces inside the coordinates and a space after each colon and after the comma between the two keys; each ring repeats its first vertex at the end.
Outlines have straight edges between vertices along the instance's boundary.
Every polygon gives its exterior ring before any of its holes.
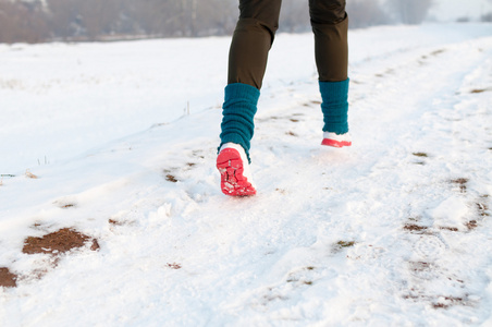
{"type": "Polygon", "coordinates": [[[239,20],[229,52],[227,84],[260,89],[268,52],[279,28],[282,0],[239,0],[239,20]]]}

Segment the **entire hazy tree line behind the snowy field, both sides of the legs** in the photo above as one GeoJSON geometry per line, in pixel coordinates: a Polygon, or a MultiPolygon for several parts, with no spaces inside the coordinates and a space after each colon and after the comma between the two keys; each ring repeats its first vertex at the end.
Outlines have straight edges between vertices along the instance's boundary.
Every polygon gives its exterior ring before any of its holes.
{"type": "MultiPolygon", "coordinates": [[[[418,24],[432,5],[384,1],[348,0],[350,27],[418,24]]],[[[307,2],[283,0],[280,31],[309,31],[307,2]]],[[[238,0],[0,0],[0,43],[229,35],[237,5],[238,0]]]]}

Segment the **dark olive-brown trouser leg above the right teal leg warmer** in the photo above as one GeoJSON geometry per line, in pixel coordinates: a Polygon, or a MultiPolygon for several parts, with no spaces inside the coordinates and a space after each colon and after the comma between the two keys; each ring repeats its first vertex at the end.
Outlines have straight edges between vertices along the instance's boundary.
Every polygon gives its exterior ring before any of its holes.
{"type": "Polygon", "coordinates": [[[315,56],[320,82],[347,80],[348,17],[345,0],[309,0],[315,56]]]}

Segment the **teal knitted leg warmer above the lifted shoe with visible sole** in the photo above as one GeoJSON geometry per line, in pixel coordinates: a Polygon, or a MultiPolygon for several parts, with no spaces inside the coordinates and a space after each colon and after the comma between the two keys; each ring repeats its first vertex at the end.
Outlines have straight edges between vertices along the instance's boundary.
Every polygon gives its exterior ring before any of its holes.
{"type": "Polygon", "coordinates": [[[253,119],[259,97],[260,92],[255,86],[234,83],[225,87],[219,148],[227,142],[239,144],[250,161],[249,147],[255,130],[253,119]]]}

